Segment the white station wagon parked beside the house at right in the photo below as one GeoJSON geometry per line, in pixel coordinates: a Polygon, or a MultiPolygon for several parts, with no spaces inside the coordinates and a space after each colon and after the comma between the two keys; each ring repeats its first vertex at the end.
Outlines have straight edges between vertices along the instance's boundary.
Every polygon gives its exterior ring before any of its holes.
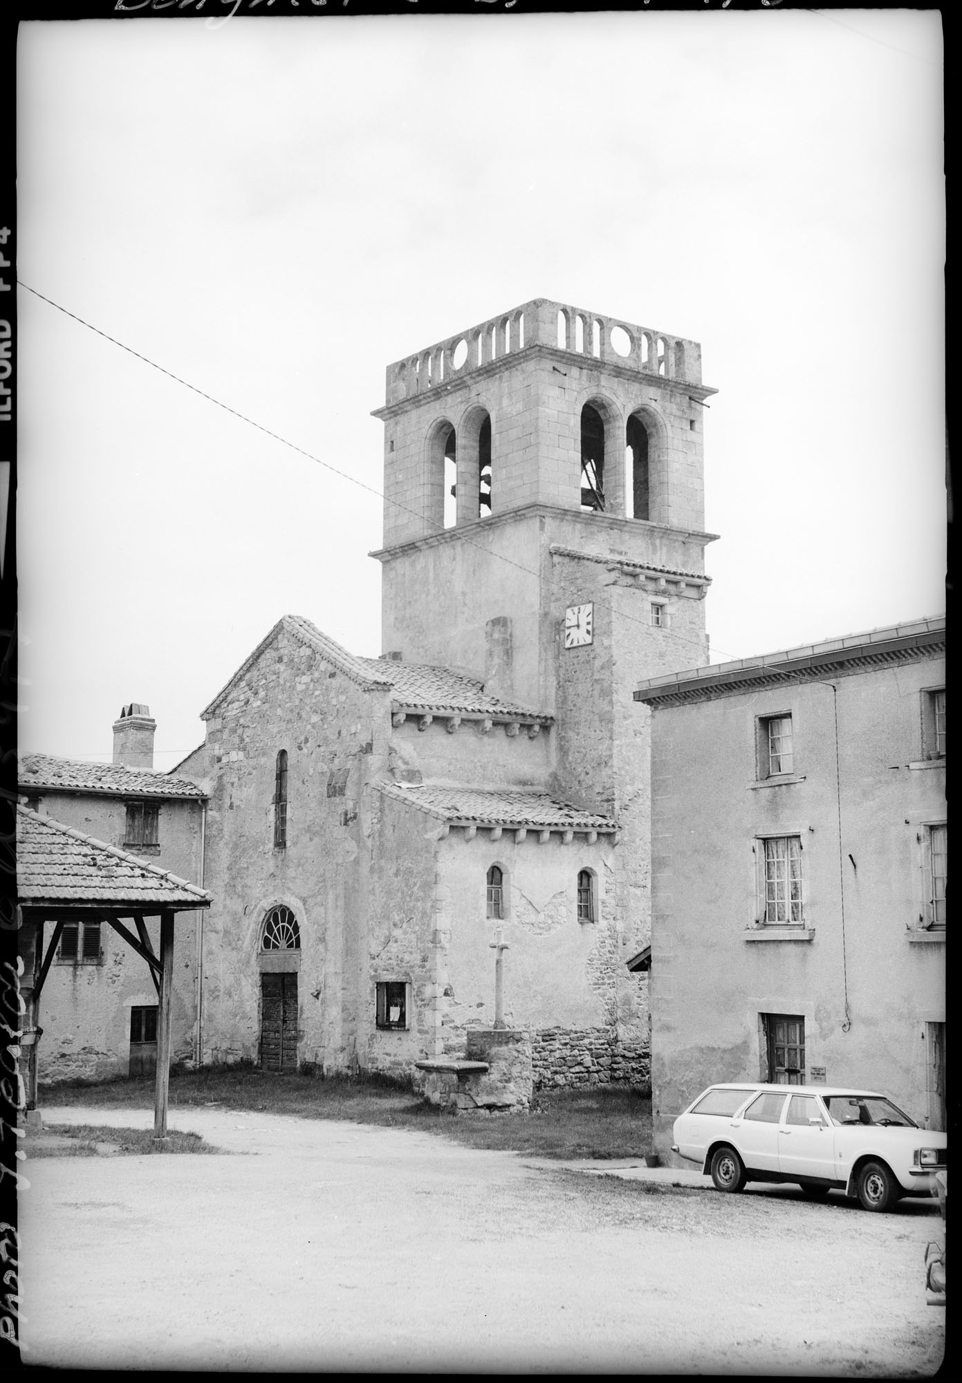
{"type": "Polygon", "coordinates": [[[813,1200],[835,1187],[867,1210],[933,1195],[945,1134],[919,1129],[890,1099],[828,1086],[710,1086],[675,1120],[672,1152],[719,1191],[795,1181],[813,1200]]]}

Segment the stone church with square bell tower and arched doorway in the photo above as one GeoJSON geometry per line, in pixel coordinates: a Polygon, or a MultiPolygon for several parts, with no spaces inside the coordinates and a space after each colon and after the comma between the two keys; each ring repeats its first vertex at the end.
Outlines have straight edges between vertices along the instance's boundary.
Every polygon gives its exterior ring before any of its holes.
{"type": "Polygon", "coordinates": [[[695,342],[535,299],[387,368],[383,653],[285,615],[209,794],[205,1061],[411,1075],[493,1018],[648,1080],[645,679],[708,661],[695,342]],[[634,967],[634,968],[632,968],[634,967]]]}

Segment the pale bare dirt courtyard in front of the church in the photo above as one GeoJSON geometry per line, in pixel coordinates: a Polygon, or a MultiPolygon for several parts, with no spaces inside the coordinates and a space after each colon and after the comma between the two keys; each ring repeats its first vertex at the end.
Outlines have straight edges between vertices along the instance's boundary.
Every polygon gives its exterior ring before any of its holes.
{"type": "Polygon", "coordinates": [[[927,1202],[723,1196],[285,1115],[171,1126],[224,1153],[21,1163],[25,1364],[925,1377],[943,1358],[927,1202]]]}

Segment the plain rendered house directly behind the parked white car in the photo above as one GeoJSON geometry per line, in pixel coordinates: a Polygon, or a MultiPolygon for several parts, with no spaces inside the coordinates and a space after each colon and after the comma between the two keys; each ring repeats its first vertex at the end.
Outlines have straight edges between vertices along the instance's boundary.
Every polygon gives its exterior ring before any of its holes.
{"type": "Polygon", "coordinates": [[[945,1129],[945,621],[648,679],[658,1151],[722,1080],[945,1129]]]}

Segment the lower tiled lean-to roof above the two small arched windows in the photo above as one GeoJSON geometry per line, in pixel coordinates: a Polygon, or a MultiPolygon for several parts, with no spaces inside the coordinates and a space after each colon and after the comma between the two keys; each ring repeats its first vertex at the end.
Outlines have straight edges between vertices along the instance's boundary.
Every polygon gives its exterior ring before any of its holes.
{"type": "Polygon", "coordinates": [[[615,831],[610,816],[586,812],[534,788],[437,787],[375,783],[386,797],[409,802],[430,816],[478,826],[527,826],[535,830],[615,831]]]}

